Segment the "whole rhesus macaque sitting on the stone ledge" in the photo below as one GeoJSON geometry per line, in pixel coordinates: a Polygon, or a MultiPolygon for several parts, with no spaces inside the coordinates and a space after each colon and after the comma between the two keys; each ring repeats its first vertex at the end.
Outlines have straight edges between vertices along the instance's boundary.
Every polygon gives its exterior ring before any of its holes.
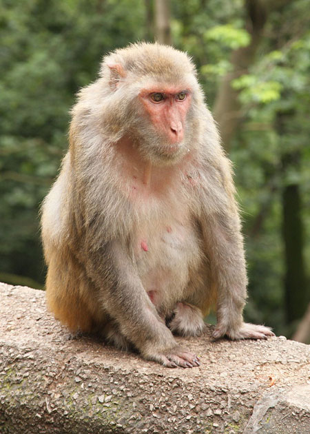
{"type": "Polygon", "coordinates": [[[265,339],[245,324],[247,276],[231,167],[187,54],[138,43],[79,92],[70,148],[43,203],[48,305],[165,366],[196,355],[174,334],[265,339]]]}

